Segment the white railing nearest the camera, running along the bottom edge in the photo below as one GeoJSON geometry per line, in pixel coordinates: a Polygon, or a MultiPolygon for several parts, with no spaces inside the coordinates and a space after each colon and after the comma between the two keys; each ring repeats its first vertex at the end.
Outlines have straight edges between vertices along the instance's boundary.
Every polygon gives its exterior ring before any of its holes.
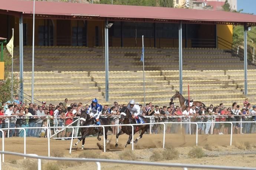
{"type": "MultiPolygon", "coordinates": [[[[46,157],[37,156],[36,154],[22,154],[9,151],[0,151],[1,154],[10,154],[22,157],[30,157],[38,159],[38,170],[41,170],[41,160],[65,160],[65,161],[83,161],[83,162],[95,162],[97,170],[101,170],[101,162],[104,163],[116,163],[116,164],[136,164],[136,165],[147,165],[147,166],[161,166],[161,167],[178,167],[187,170],[187,168],[199,168],[199,169],[221,169],[221,170],[256,170],[253,167],[232,167],[232,166],[216,166],[216,165],[196,165],[196,164],[181,164],[181,163],[157,163],[157,162],[145,162],[145,161],[127,161],[127,160],[113,160],[113,159],[92,159],[92,158],[68,158],[68,157],[46,157]]],[[[1,170],[0,161],[0,170],[1,170]]]]}

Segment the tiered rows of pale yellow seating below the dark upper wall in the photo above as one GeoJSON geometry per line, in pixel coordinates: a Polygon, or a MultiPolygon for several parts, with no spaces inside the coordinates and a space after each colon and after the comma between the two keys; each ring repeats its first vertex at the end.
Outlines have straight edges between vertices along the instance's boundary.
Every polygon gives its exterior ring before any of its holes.
{"type": "MultiPolygon", "coordinates": [[[[19,51],[19,50],[14,50],[19,51]]],[[[31,94],[32,47],[24,47],[24,90],[31,94]]],[[[19,54],[16,52],[15,58],[19,54]]],[[[109,98],[119,103],[135,99],[142,103],[143,72],[141,47],[109,47],[109,98]]],[[[145,48],[146,102],[168,105],[179,90],[178,48],[145,48]]],[[[19,60],[14,70],[19,71],[19,60]]],[[[250,100],[255,100],[256,67],[248,66],[250,100]],[[252,98],[252,99],[251,99],[252,98]]],[[[35,47],[35,97],[58,103],[88,101],[97,97],[105,103],[105,57],[102,47],[35,47]]],[[[15,72],[19,74],[19,72],[15,72]]],[[[220,49],[183,48],[183,94],[205,104],[241,102],[243,61],[220,49]],[[240,70],[234,70],[240,69],[240,70]]],[[[176,101],[177,103],[178,101],[176,101]]]]}

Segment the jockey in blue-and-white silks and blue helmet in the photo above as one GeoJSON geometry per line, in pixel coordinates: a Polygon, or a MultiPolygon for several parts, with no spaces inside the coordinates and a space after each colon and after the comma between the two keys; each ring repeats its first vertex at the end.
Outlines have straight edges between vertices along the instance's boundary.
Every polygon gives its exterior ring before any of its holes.
{"type": "Polygon", "coordinates": [[[94,119],[95,125],[100,125],[99,123],[99,117],[101,116],[102,112],[102,106],[98,103],[98,100],[95,98],[92,100],[92,104],[90,104],[87,114],[91,116],[91,118],[94,119]]]}

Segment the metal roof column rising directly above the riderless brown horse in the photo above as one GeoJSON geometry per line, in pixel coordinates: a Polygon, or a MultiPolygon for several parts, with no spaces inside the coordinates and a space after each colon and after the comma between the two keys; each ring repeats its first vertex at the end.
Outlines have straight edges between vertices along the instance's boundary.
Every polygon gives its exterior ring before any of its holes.
{"type": "Polygon", "coordinates": [[[182,94],[182,21],[179,24],[179,76],[180,76],[180,94],[182,94]]]}

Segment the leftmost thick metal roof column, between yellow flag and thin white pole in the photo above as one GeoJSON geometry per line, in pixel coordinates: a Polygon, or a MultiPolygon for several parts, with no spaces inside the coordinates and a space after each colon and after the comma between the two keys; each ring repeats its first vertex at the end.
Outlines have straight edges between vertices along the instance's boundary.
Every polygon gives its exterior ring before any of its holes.
{"type": "Polygon", "coordinates": [[[20,101],[23,102],[23,16],[21,14],[19,20],[19,48],[20,48],[20,101]]]}

